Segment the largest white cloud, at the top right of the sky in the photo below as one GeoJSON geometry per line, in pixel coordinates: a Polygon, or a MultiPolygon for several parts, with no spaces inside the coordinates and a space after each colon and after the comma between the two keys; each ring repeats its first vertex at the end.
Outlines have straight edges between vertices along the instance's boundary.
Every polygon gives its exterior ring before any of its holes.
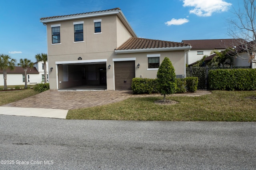
{"type": "Polygon", "coordinates": [[[224,0],[182,0],[184,7],[194,7],[190,14],[197,16],[212,16],[214,12],[225,12],[232,5],[224,0]]]}

